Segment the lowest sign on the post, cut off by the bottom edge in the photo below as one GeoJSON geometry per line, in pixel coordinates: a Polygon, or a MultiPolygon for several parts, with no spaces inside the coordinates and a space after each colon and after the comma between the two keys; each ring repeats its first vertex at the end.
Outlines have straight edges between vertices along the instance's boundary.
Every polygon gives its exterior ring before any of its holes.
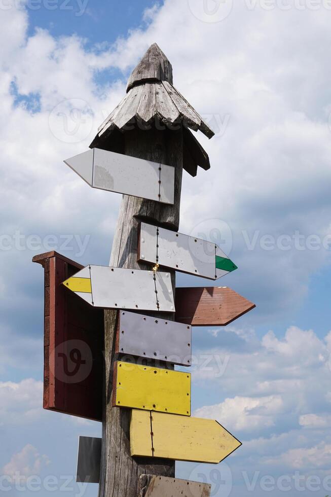
{"type": "Polygon", "coordinates": [[[141,475],[138,497],[209,497],[211,485],[166,476],[141,475]]]}

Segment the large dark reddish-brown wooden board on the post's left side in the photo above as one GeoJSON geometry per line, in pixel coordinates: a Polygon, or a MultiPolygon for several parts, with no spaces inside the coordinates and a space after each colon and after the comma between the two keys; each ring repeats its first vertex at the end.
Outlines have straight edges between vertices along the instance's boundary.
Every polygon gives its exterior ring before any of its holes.
{"type": "Polygon", "coordinates": [[[61,285],[83,266],[56,252],[32,261],[45,269],[44,408],[101,421],[103,310],[61,285]]]}

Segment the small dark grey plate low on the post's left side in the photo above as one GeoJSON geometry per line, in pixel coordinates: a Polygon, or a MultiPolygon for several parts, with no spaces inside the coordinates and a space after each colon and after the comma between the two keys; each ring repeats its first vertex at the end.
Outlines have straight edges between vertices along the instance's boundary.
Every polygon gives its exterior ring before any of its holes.
{"type": "Polygon", "coordinates": [[[76,481],[99,483],[101,442],[101,438],[79,437],[76,481]]]}

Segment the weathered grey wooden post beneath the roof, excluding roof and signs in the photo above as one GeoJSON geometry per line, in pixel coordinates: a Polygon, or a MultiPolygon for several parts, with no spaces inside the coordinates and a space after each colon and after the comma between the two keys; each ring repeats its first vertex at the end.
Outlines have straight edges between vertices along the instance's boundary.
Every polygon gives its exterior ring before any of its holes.
{"type": "MultiPolygon", "coordinates": [[[[153,219],[161,225],[177,230],[182,176],[183,138],[182,129],[170,132],[155,128],[127,131],[125,154],[153,160],[175,167],[175,202],[173,206],[123,196],[117,228],[115,230],[110,264],[115,267],[148,269],[137,263],[139,219],[153,219]]],[[[175,291],[175,274],[171,271],[172,288],[175,291]]],[[[169,315],[154,313],[155,317],[169,319],[169,315]]],[[[105,392],[102,424],[102,454],[100,472],[100,497],[136,497],[141,474],[151,473],[174,477],[174,463],[154,458],[132,458],[130,453],[130,411],[112,406],[114,361],[116,350],[117,312],[106,310],[105,318],[105,392]]]]}

